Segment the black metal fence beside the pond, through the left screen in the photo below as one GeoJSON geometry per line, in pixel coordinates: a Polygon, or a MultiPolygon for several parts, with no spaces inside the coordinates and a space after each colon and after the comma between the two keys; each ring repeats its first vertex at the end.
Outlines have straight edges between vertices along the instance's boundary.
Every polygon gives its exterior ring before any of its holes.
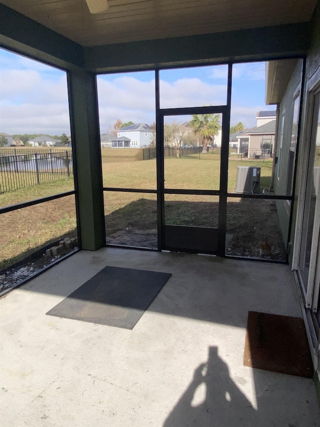
{"type": "Polygon", "coordinates": [[[0,156],[0,193],[50,181],[73,174],[72,152],[26,153],[0,156]]]}

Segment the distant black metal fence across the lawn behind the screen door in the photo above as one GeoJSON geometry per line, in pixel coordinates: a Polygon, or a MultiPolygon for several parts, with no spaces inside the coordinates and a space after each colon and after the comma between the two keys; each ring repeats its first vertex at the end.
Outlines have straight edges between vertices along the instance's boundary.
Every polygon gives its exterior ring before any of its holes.
{"type": "MultiPolygon", "coordinates": [[[[220,160],[220,147],[184,147],[179,150],[179,158],[198,159],[198,160],[220,160]]],[[[154,147],[143,148],[143,160],[155,159],[156,152],[154,147]]],[[[164,157],[177,157],[174,147],[164,147],[164,157]]],[[[270,149],[249,148],[238,152],[236,148],[229,149],[229,160],[237,162],[247,162],[251,160],[260,160],[262,162],[272,161],[272,151],[270,149]]]]}

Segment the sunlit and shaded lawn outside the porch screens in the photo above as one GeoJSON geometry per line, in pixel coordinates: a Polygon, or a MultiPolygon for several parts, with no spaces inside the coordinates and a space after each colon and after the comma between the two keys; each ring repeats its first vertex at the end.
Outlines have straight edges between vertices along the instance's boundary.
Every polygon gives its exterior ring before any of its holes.
{"type": "MultiPolygon", "coordinates": [[[[116,149],[102,149],[102,153],[105,154],[106,150],[114,154],[119,151],[116,149]]],[[[103,185],[105,187],[156,189],[155,159],[133,161],[133,151],[136,150],[121,149],[121,153],[131,154],[131,156],[127,155],[122,159],[124,161],[121,162],[119,161],[121,158],[113,157],[117,159],[115,162],[111,161],[110,163],[105,162],[102,164],[103,185]],[[125,151],[129,151],[129,153],[125,153],[125,151]]],[[[236,168],[239,164],[246,165],[247,163],[229,162],[229,191],[234,190],[236,168]]],[[[254,162],[254,166],[261,167],[261,188],[267,189],[271,178],[271,163],[254,162]]],[[[218,189],[218,186],[219,161],[165,159],[166,188],[218,189]]],[[[0,207],[73,189],[73,179],[68,178],[9,191],[0,195],[0,207]]],[[[234,224],[241,222],[241,216],[243,221],[247,221],[247,217],[243,212],[247,212],[248,209],[252,210],[252,205],[250,208],[244,206],[244,204],[240,205],[239,201],[241,199],[231,200],[234,203],[229,203],[228,206],[237,206],[237,209],[234,210],[234,215],[232,210],[228,212],[229,228],[233,230],[234,224]],[[240,210],[239,206],[243,206],[244,211],[240,210]]],[[[217,207],[217,198],[212,196],[166,195],[166,221],[170,224],[216,226],[217,207]]],[[[104,194],[104,208],[107,235],[125,228],[139,230],[156,228],[156,195],[154,194],[106,192],[104,194]]],[[[265,206],[263,209],[259,210],[260,218],[258,218],[262,225],[268,216],[268,209],[265,209],[265,206]]],[[[256,216],[257,213],[255,212],[254,215],[256,216]]],[[[273,218],[274,216],[271,217],[273,218]]],[[[244,223],[241,227],[245,227],[244,223]]],[[[0,223],[0,269],[23,259],[23,257],[49,242],[66,235],[74,237],[75,230],[76,219],[73,196],[2,214],[0,223]]],[[[236,233],[234,230],[232,232],[236,233]]]]}

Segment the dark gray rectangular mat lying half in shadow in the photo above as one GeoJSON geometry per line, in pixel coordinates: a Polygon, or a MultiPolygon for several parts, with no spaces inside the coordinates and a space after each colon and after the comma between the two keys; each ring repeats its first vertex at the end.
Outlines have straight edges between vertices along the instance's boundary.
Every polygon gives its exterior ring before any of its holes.
{"type": "Polygon", "coordinates": [[[170,273],[105,267],[46,314],[133,329],[170,273]]]}

